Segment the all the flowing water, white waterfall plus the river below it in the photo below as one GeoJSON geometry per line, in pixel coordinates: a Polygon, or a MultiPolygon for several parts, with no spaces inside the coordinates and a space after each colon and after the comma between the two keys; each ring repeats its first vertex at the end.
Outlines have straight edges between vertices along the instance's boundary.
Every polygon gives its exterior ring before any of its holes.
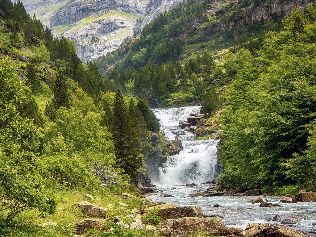
{"type": "MultiPolygon", "coordinates": [[[[298,224],[285,225],[305,232],[316,230],[316,203],[278,203],[282,197],[260,196],[270,203],[280,204],[280,207],[258,207],[250,204],[254,197],[187,197],[197,191],[206,190],[208,185],[185,187],[183,184],[202,183],[215,179],[219,173],[217,163],[217,143],[219,140],[192,141],[195,135],[179,127],[179,120],[186,119],[190,113],[200,112],[200,106],[188,106],[175,109],[153,109],[160,119],[161,129],[172,140],[181,140],[183,150],[178,155],[169,156],[163,167],[159,168],[159,179],[154,183],[160,190],[158,195],[151,195],[153,201],[174,203],[178,206],[201,207],[204,215],[224,217],[228,227],[245,229],[250,222],[271,223],[276,214],[302,214],[306,216],[298,224]],[[159,197],[164,192],[174,197],[159,197]],[[222,207],[213,207],[219,204],[222,207]]],[[[280,224],[280,223],[277,223],[280,224]]],[[[316,233],[316,231],[315,231],[316,233]]],[[[310,236],[316,234],[308,233],[310,236]]]]}

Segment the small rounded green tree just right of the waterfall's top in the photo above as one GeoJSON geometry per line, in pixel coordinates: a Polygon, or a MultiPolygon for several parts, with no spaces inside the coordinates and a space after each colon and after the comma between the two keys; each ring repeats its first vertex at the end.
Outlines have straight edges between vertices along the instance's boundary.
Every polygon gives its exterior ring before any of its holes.
{"type": "Polygon", "coordinates": [[[216,94],[215,90],[209,90],[204,93],[202,99],[202,113],[212,114],[223,106],[222,99],[216,94]]]}

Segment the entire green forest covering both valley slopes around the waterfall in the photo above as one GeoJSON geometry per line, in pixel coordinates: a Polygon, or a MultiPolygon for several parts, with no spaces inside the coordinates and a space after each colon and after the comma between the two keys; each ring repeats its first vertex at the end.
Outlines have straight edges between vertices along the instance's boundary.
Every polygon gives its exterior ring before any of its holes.
{"type": "Polygon", "coordinates": [[[0,0],[0,235],[72,236],[82,213],[69,206],[89,193],[110,211],[105,231],[85,236],[156,236],[109,231],[143,204],[113,195],[138,196],[154,134],[166,150],[150,106],[202,104],[205,119],[222,111],[220,190],[315,191],[315,6],[216,26],[262,3],[229,3],[216,18],[212,1],[188,0],[83,63],[20,0],[0,0]],[[54,231],[39,227],[48,221],[54,231]]]}

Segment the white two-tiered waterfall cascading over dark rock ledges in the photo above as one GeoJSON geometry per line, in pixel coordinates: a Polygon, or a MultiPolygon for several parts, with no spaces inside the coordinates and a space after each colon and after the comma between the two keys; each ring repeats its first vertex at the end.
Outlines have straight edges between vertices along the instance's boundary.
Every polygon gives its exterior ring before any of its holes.
{"type": "Polygon", "coordinates": [[[171,140],[181,140],[183,149],[178,155],[167,157],[159,167],[156,185],[181,185],[201,183],[216,179],[218,175],[217,143],[219,140],[193,141],[195,135],[179,126],[190,113],[199,113],[201,106],[186,106],[173,109],[152,109],[160,120],[161,129],[171,140]]]}

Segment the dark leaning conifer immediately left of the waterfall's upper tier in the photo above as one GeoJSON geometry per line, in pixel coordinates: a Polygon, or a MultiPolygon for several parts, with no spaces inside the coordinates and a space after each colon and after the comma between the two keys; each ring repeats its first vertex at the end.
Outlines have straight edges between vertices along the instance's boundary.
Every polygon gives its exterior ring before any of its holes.
{"type": "Polygon", "coordinates": [[[148,101],[144,94],[142,94],[140,99],[138,100],[137,107],[143,115],[147,129],[152,132],[159,132],[160,128],[158,119],[156,118],[155,114],[150,110],[148,101]]]}

